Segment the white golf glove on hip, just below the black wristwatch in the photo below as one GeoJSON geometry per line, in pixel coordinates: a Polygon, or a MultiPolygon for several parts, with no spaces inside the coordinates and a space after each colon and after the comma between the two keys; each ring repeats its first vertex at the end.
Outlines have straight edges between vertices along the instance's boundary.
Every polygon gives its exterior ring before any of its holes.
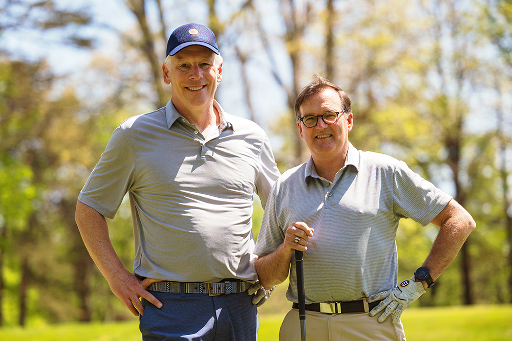
{"type": "Polygon", "coordinates": [[[391,315],[391,322],[396,324],[400,320],[403,310],[426,292],[423,284],[421,282],[414,282],[414,279],[413,276],[409,280],[402,281],[396,288],[370,295],[367,299],[368,303],[383,300],[370,311],[370,316],[373,317],[379,311],[386,308],[382,315],[379,316],[378,321],[382,323],[391,315]]]}

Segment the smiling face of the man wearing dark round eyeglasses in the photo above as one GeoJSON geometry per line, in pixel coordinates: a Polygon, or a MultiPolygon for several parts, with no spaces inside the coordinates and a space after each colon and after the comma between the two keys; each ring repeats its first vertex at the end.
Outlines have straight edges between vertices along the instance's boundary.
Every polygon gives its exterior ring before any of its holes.
{"type": "MultiPolygon", "coordinates": [[[[308,97],[300,107],[301,117],[308,115],[323,115],[328,111],[342,111],[345,108],[339,99],[338,93],[332,88],[325,88],[321,92],[308,97]]],[[[352,130],[353,115],[350,113],[340,114],[338,121],[334,124],[325,124],[319,118],[316,126],[308,128],[301,121],[297,121],[301,138],[308,145],[315,163],[321,158],[343,157],[347,154],[349,147],[348,133],[352,130]]]]}

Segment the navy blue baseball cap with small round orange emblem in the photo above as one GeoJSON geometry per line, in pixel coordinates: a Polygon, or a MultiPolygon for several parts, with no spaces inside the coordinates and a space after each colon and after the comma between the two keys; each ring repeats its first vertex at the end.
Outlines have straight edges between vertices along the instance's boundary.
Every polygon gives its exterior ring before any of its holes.
{"type": "Polygon", "coordinates": [[[178,27],[170,35],[166,56],[174,56],[181,49],[191,45],[201,45],[219,54],[214,32],[203,25],[187,24],[178,27]]]}

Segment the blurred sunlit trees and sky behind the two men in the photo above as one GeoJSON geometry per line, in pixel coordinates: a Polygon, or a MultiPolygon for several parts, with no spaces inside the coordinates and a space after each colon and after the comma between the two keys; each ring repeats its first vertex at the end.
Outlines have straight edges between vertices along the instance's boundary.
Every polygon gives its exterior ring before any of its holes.
{"type": "MultiPolygon", "coordinates": [[[[477,229],[419,305],[512,303],[512,2],[125,0],[100,19],[108,4],[0,3],[0,324],[131,318],[87,254],[74,206],[113,129],[172,95],[161,63],[187,22],[216,33],[218,100],[265,128],[282,171],[309,157],[293,102],[318,72],[351,97],[356,148],[406,161],[470,211],[477,229]],[[60,59],[9,42],[30,36],[60,59]],[[87,63],[61,71],[69,51],[87,63]]],[[[126,202],[109,224],[131,269],[126,202]]],[[[436,233],[400,223],[399,278],[436,233]]]]}

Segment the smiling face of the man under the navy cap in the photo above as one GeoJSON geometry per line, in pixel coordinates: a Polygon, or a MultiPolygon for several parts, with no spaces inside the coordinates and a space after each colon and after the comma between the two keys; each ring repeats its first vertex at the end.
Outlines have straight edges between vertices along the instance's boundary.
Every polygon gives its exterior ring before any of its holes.
{"type": "Polygon", "coordinates": [[[214,65],[215,53],[199,45],[186,47],[162,65],[165,84],[173,87],[173,104],[182,115],[212,108],[222,63],[214,65]]]}

